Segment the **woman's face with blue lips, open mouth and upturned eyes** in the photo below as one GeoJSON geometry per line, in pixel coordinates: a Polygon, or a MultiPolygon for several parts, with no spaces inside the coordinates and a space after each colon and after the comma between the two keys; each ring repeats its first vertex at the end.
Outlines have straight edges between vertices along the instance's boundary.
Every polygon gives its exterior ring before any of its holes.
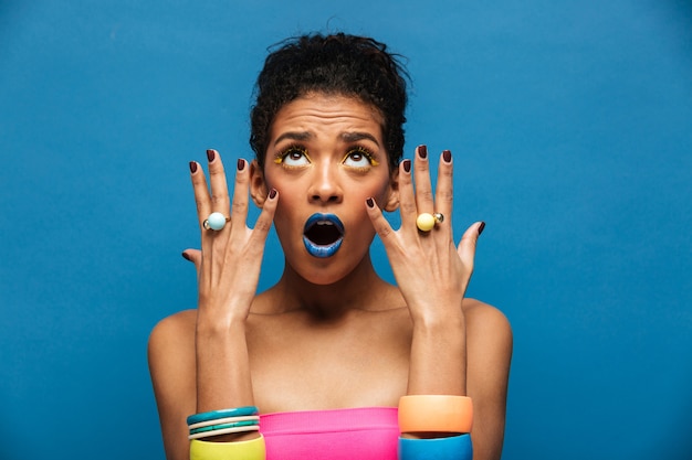
{"type": "Polygon", "coordinates": [[[303,96],[276,114],[264,171],[253,165],[253,199],[261,206],[279,191],[274,226],[286,263],[311,282],[335,282],[368,254],[367,197],[387,211],[398,205],[381,120],[357,98],[303,96]]]}

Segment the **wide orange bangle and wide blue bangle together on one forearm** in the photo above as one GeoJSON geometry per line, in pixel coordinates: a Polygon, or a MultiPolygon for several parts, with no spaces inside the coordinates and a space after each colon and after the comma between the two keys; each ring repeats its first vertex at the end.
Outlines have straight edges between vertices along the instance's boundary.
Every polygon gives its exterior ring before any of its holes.
{"type": "Polygon", "coordinates": [[[473,405],[466,396],[399,399],[399,460],[472,460],[473,405]]]}

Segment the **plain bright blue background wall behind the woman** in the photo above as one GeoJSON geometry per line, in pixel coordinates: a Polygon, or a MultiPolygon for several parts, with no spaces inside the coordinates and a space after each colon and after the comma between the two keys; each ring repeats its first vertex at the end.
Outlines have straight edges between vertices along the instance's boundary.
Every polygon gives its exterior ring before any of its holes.
{"type": "Polygon", "coordinates": [[[265,49],[343,30],[408,57],[408,154],[451,148],[457,233],[487,222],[504,458],[689,459],[692,7],[491,3],[1,1],[0,458],[162,458],[146,342],[196,303],[187,162],[249,158],[265,49]]]}

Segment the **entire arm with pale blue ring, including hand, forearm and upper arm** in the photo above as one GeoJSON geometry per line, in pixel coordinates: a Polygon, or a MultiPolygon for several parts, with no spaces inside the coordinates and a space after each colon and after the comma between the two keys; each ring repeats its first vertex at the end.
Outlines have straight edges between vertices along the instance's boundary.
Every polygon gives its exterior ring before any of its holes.
{"type": "MultiPolygon", "coordinates": [[[[276,207],[275,192],[263,202],[254,229],[245,225],[250,171],[239,160],[232,206],[219,154],[207,152],[211,192],[198,163],[190,173],[200,223],[201,252],[186,250],[198,272],[198,309],[188,318],[185,340],[177,339],[176,321],[164,321],[151,334],[149,360],[164,443],[169,459],[188,457],[187,416],[253,404],[245,341],[245,320],[260,276],[264,242],[276,207]],[[231,212],[232,207],[232,212],[231,212]],[[220,231],[202,223],[212,212],[231,221],[220,231]],[[180,363],[179,356],[185,356],[180,363]]],[[[233,441],[258,434],[208,438],[233,441]]]]}

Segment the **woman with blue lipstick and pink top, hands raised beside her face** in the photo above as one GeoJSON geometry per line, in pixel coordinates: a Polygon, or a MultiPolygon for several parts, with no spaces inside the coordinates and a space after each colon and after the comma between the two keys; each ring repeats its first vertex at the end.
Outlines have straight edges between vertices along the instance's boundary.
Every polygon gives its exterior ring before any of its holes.
{"type": "Polygon", "coordinates": [[[396,458],[405,395],[469,396],[473,456],[500,458],[511,329],[499,310],[464,298],[484,224],[455,247],[451,152],[440,156],[434,196],[427,148],[400,161],[403,75],[371,39],[285,42],[258,78],[255,159],[238,161],[232,197],[217,151],[207,152],[209,184],[190,163],[201,252],[184,256],[197,267],[198,308],[162,320],[149,341],[168,459],[187,459],[188,436],[207,429],[203,442],[222,448],[261,437],[268,459],[396,458]],[[249,194],[262,210],[254,228],[249,194]],[[382,211],[396,210],[395,231],[382,211]],[[255,295],[272,222],[285,268],[255,295]],[[375,272],[375,234],[397,286],[375,272]],[[255,413],[243,413],[253,406],[262,435],[255,413]],[[227,408],[232,424],[208,421],[227,408]]]}

